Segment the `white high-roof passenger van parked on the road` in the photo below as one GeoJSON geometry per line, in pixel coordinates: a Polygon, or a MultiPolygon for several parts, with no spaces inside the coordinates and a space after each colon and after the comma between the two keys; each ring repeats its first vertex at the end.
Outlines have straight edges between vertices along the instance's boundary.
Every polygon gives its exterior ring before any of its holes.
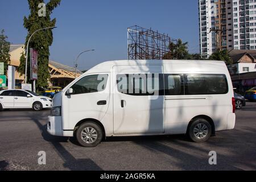
{"type": "Polygon", "coordinates": [[[107,61],[55,95],[47,127],[85,147],[112,136],[188,134],[204,142],[234,129],[234,110],[222,61],[107,61]]]}

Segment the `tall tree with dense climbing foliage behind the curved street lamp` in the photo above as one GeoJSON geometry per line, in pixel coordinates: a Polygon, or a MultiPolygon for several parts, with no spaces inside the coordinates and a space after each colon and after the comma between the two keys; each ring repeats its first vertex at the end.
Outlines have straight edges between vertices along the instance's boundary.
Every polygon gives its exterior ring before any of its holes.
{"type": "MultiPolygon", "coordinates": [[[[28,0],[28,5],[30,7],[30,15],[28,18],[24,17],[24,27],[28,30],[25,47],[27,47],[27,42],[30,36],[36,30],[46,27],[54,27],[56,19],[51,19],[50,15],[52,11],[60,5],[61,0],[50,0],[45,6],[45,14],[40,15],[39,11],[42,9],[42,6],[39,6],[40,3],[44,3],[44,0],[28,0]]],[[[37,88],[48,86],[48,79],[50,77],[48,71],[48,62],[49,62],[49,46],[52,45],[53,36],[52,29],[42,30],[36,32],[30,40],[29,48],[34,48],[38,51],[38,80],[36,82],[37,88]]],[[[30,50],[30,49],[28,49],[30,50]]],[[[28,54],[29,55],[29,54],[28,54]]],[[[25,73],[25,56],[24,54],[20,57],[20,66],[18,71],[20,75],[25,73]]],[[[30,56],[28,56],[27,63],[27,80],[30,82],[30,56]]]]}

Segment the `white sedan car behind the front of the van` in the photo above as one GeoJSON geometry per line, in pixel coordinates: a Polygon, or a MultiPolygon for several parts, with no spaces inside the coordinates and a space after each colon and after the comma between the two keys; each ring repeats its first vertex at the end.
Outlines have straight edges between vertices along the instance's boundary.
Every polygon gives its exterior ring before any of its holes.
{"type": "Polygon", "coordinates": [[[29,90],[9,89],[0,92],[0,110],[32,108],[36,111],[52,107],[52,99],[29,90]]]}

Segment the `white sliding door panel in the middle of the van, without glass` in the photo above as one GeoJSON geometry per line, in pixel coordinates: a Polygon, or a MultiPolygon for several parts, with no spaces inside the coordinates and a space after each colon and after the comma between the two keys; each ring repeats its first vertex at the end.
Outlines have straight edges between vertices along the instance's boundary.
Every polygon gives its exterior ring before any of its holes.
{"type": "MultiPolygon", "coordinates": [[[[163,73],[162,65],[120,65],[113,67],[113,82],[117,75],[163,73]]],[[[163,134],[164,96],[133,96],[120,93],[113,84],[114,135],[163,134]],[[121,106],[121,102],[124,106],[121,106]]]]}

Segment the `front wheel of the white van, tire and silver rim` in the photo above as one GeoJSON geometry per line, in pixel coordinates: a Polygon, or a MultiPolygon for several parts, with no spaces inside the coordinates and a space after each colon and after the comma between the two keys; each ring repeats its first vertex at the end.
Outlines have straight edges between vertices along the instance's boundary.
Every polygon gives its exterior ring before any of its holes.
{"type": "Polygon", "coordinates": [[[101,127],[94,122],[82,123],[76,130],[77,142],[79,142],[82,147],[95,147],[101,142],[102,137],[103,133],[101,127]],[[82,133],[84,133],[84,136],[82,136],[82,133]],[[96,135],[97,138],[95,138],[96,135]]]}

